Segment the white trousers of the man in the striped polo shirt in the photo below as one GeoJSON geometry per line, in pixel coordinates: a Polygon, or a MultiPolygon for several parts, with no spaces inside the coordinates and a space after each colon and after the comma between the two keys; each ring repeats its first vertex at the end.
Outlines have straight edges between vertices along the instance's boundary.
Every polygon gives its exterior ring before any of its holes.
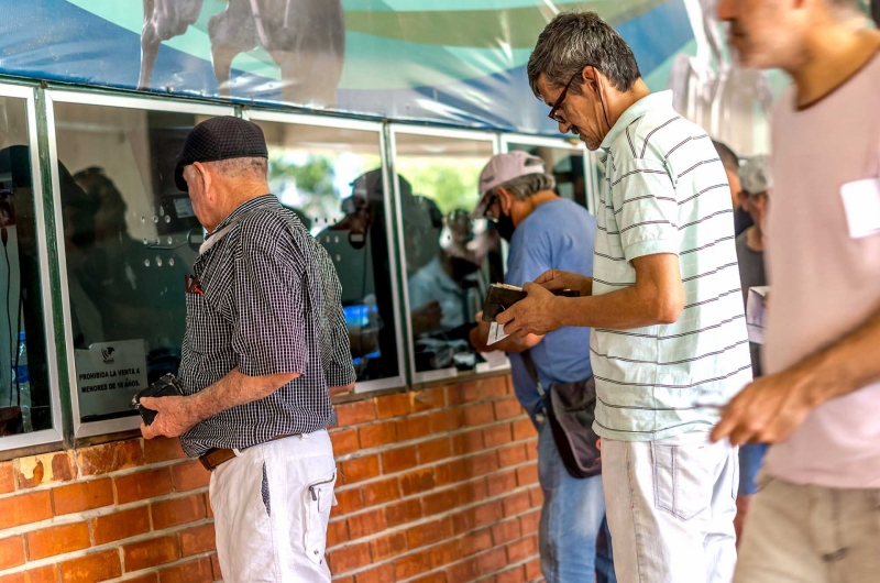
{"type": "Polygon", "coordinates": [[[602,483],[619,583],[730,583],[739,460],[727,440],[603,439],[602,483]]]}

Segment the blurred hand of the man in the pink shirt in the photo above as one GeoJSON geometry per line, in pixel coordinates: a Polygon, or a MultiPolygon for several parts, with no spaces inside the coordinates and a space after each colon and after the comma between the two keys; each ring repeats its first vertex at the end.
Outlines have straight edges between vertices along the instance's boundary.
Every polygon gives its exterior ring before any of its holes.
{"type": "Polygon", "coordinates": [[[785,441],[818,403],[796,369],[750,383],[725,407],[712,440],[726,437],[730,443],[779,443],[785,441]]]}

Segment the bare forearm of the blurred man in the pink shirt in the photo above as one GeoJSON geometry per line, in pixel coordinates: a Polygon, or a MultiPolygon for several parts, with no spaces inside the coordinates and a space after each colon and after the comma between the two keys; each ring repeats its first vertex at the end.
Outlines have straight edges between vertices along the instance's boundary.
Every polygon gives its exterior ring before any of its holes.
{"type": "Polygon", "coordinates": [[[795,364],[814,406],[880,381],[880,309],[834,344],[795,364]]]}

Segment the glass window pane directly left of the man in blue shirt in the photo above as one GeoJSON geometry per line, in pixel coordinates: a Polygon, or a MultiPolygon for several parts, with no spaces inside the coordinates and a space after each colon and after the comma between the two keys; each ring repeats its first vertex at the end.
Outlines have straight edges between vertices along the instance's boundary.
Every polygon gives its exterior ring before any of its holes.
{"type": "Polygon", "coordinates": [[[504,279],[494,223],[470,218],[493,146],[413,134],[395,141],[416,371],[471,371],[480,356],[468,336],[488,285],[504,279]]]}

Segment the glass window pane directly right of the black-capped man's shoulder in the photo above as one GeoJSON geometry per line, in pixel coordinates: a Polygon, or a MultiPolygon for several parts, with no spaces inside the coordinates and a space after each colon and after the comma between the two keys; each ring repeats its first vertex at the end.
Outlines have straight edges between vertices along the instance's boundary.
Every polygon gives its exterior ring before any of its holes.
{"type": "Polygon", "coordinates": [[[358,381],[399,374],[378,132],[256,122],[270,187],[337,266],[358,381]]]}

